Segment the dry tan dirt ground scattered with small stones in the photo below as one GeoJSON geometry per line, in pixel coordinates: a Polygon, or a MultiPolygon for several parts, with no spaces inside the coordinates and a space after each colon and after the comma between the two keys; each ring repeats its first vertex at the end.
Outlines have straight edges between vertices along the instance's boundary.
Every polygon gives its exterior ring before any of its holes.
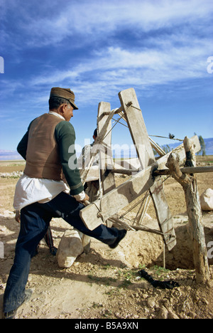
{"type": "MultiPolygon", "coordinates": [[[[212,165],[213,157],[197,159],[212,165]]],[[[23,171],[24,163],[0,162],[0,174],[23,171]]],[[[117,184],[125,181],[117,176],[117,184]]],[[[13,264],[19,225],[14,219],[13,194],[18,178],[0,177],[0,242],[4,258],[0,259],[0,318],[6,280],[13,264]]],[[[213,174],[197,174],[200,194],[213,189],[213,174]]],[[[28,304],[18,310],[17,319],[212,319],[213,259],[209,258],[211,280],[197,285],[193,269],[192,248],[187,233],[185,198],[181,186],[171,177],[164,183],[165,194],[175,221],[177,245],[165,250],[161,236],[143,231],[128,231],[118,248],[111,250],[92,239],[91,250],[82,253],[71,268],[58,267],[42,241],[33,258],[27,287],[33,290],[28,304]],[[156,280],[174,280],[173,290],[154,288],[138,271],[146,268],[156,280]]],[[[157,228],[153,205],[148,208],[144,225],[157,228]]],[[[136,208],[129,214],[133,219],[136,208]]],[[[213,211],[203,212],[206,243],[213,240],[213,211]]],[[[51,221],[55,246],[58,247],[70,226],[60,218],[51,221]]],[[[210,248],[207,248],[212,254],[210,248]]],[[[212,255],[211,255],[212,256],[212,255]]]]}

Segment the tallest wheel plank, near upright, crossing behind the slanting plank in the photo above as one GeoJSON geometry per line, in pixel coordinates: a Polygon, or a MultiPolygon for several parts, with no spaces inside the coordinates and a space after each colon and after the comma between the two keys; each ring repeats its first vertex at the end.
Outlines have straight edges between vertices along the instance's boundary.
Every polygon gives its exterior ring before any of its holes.
{"type": "MultiPolygon", "coordinates": [[[[119,93],[119,98],[121,100],[121,105],[123,105],[124,108],[125,118],[129,125],[133,143],[136,145],[138,159],[141,162],[141,166],[146,168],[155,162],[155,156],[148,137],[146,125],[143,120],[141,108],[136,97],[136,92],[133,88],[123,90],[119,93]],[[130,102],[132,102],[132,104],[128,107],[127,105],[129,105],[130,102]]],[[[150,194],[155,206],[155,212],[160,230],[167,234],[170,231],[172,241],[170,241],[168,235],[163,236],[163,238],[168,250],[171,250],[177,242],[175,237],[172,237],[175,236],[173,217],[165,198],[161,179],[155,180],[155,183],[150,188],[150,194]],[[167,221],[167,223],[164,223],[165,221],[167,221]]]]}

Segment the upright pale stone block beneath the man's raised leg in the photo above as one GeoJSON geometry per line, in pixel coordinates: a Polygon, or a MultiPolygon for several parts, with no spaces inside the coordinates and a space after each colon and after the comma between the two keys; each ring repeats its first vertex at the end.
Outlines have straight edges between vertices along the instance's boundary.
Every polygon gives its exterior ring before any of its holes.
{"type": "Polygon", "coordinates": [[[76,230],[67,230],[62,236],[56,258],[60,268],[69,268],[84,251],[82,240],[76,230]]]}

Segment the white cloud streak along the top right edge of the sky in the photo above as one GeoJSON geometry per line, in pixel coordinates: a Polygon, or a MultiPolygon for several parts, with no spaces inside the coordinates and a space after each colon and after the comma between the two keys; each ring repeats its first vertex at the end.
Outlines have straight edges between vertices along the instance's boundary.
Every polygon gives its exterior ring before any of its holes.
{"type": "MultiPolygon", "coordinates": [[[[190,23],[209,16],[211,1],[80,1],[69,4],[52,26],[62,33],[109,33],[122,27],[143,31],[155,30],[176,23],[190,23]]],[[[49,22],[50,23],[50,22],[49,22]]]]}

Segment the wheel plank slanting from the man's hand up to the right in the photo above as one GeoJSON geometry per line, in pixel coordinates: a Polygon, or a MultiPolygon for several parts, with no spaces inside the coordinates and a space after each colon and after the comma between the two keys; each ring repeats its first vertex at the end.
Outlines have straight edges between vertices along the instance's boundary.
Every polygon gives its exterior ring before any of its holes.
{"type": "MultiPolygon", "coordinates": [[[[192,142],[195,144],[195,152],[199,152],[200,142],[198,137],[192,137],[192,142]]],[[[174,149],[173,152],[178,154],[180,165],[182,165],[185,161],[185,149],[183,144],[180,144],[180,146],[174,149]]],[[[151,164],[151,166],[148,166],[146,169],[138,172],[135,176],[132,176],[131,179],[124,184],[121,184],[116,187],[116,189],[105,194],[102,201],[97,200],[83,208],[80,211],[80,216],[85,226],[90,230],[97,228],[97,226],[103,223],[102,218],[107,221],[108,218],[121,211],[122,208],[128,206],[131,201],[148,191],[155,181],[152,176],[153,170],[164,169],[169,156],[170,152],[163,157],[160,157],[160,159],[151,164]]]]}

